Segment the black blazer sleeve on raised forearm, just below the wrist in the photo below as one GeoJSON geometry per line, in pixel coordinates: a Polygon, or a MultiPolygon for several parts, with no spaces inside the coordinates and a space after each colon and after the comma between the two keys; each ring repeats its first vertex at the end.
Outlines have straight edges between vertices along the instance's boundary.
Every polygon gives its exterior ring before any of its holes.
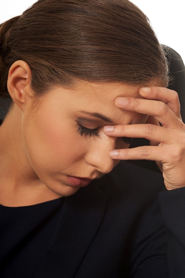
{"type": "Polygon", "coordinates": [[[168,267],[171,278],[185,277],[185,188],[158,194],[168,242],[168,267]]]}

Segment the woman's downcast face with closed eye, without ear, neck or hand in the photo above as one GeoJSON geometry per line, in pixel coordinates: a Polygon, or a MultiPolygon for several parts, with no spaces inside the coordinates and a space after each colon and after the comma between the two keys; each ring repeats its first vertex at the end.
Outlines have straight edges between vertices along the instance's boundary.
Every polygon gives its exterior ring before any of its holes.
{"type": "Polygon", "coordinates": [[[122,111],[114,104],[118,96],[138,96],[138,89],[120,83],[81,82],[74,89],[51,90],[36,109],[31,104],[23,112],[25,154],[50,190],[72,195],[113,169],[118,161],[110,158],[109,151],[129,144],[105,135],[103,127],[145,122],[146,115],[122,111]]]}

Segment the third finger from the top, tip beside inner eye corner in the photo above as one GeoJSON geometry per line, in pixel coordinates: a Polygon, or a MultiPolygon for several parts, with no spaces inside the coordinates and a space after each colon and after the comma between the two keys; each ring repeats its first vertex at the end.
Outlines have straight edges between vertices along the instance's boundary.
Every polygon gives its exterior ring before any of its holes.
{"type": "Polygon", "coordinates": [[[174,143],[176,132],[152,124],[104,126],[104,133],[114,137],[146,138],[155,142],[174,143]]]}

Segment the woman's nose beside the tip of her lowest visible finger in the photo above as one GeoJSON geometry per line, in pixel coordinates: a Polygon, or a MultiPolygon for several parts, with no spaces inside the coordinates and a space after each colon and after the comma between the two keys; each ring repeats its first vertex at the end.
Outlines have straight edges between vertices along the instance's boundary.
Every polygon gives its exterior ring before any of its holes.
{"type": "Polygon", "coordinates": [[[109,173],[117,164],[117,160],[113,160],[109,156],[109,151],[116,148],[116,138],[109,137],[104,133],[98,136],[85,156],[85,161],[89,165],[96,167],[101,173],[109,173]]]}

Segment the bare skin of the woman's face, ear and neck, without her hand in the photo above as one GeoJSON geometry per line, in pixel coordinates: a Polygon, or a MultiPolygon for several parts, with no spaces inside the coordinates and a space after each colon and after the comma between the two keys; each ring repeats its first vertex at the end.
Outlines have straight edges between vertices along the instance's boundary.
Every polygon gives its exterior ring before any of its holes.
{"type": "Polygon", "coordinates": [[[109,151],[129,144],[105,135],[104,126],[144,123],[147,118],[115,106],[118,96],[137,96],[139,86],[83,81],[75,88],[55,87],[35,98],[30,75],[23,61],[15,62],[9,72],[14,104],[0,127],[3,205],[30,205],[72,195],[79,186],[72,186],[67,175],[94,179],[109,173],[118,163],[109,151]],[[111,122],[84,111],[101,113],[111,122]],[[78,123],[97,129],[98,136],[79,134],[78,123]]]}

